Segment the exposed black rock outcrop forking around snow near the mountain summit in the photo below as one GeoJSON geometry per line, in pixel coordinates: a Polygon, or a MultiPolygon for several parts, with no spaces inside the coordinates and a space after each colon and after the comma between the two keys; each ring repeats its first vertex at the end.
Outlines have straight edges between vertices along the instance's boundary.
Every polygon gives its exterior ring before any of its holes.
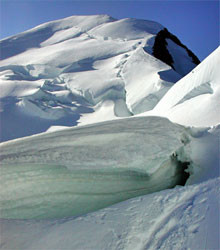
{"type": "Polygon", "coordinates": [[[169,53],[167,49],[168,44],[166,39],[170,39],[178,46],[184,48],[187,51],[189,57],[191,57],[192,62],[195,65],[198,65],[200,63],[198,57],[191,50],[189,50],[184,44],[182,44],[181,41],[176,36],[171,34],[166,28],[159,31],[155,37],[153,45],[153,55],[156,58],[160,59],[161,61],[165,62],[166,64],[170,65],[173,69],[175,69],[173,65],[174,61],[172,55],[169,53]]]}

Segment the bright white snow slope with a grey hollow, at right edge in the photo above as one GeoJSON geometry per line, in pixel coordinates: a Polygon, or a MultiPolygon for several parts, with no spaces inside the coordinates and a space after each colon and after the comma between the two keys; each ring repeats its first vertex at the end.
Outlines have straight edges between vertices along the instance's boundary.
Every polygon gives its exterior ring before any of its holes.
{"type": "Polygon", "coordinates": [[[220,48],[178,81],[154,108],[152,114],[190,126],[220,123],[220,48]]]}

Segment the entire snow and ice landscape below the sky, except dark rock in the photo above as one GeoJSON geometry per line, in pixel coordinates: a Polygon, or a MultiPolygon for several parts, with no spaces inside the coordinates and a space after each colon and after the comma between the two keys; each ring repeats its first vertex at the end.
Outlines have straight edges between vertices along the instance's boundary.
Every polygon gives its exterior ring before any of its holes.
{"type": "Polygon", "coordinates": [[[220,49],[196,66],[167,32],[73,16],[0,41],[0,249],[220,249],[220,49]]]}

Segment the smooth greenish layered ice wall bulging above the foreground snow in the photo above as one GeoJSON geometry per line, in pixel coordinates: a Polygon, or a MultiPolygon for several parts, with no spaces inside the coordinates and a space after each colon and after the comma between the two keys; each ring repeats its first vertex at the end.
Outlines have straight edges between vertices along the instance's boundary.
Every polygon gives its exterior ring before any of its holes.
{"type": "Polygon", "coordinates": [[[184,184],[188,137],[143,117],[2,143],[1,217],[63,218],[184,184]]]}

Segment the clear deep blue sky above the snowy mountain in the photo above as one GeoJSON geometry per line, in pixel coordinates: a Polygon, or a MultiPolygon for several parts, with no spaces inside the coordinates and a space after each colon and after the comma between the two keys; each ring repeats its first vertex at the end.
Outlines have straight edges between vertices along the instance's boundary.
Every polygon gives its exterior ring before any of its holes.
{"type": "Polygon", "coordinates": [[[218,0],[0,0],[0,3],[1,39],[71,15],[108,14],[157,21],[201,60],[219,45],[218,0]]]}

